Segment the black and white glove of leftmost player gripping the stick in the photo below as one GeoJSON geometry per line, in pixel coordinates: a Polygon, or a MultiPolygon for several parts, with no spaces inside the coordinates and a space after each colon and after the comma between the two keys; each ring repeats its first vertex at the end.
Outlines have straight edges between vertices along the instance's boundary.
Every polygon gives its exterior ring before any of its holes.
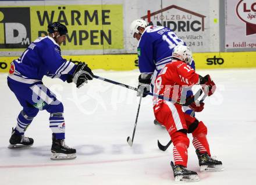
{"type": "Polygon", "coordinates": [[[93,80],[93,72],[86,63],[80,62],[74,70],[72,79],[76,87],[80,88],[84,83],[87,83],[87,80],[93,80]]]}

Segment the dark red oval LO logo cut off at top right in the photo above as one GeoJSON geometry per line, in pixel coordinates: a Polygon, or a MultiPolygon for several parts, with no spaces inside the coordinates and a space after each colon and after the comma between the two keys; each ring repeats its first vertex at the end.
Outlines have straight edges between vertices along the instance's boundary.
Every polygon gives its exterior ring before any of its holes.
{"type": "Polygon", "coordinates": [[[237,3],[236,13],[239,19],[246,23],[246,35],[256,33],[256,2],[241,0],[237,3]]]}

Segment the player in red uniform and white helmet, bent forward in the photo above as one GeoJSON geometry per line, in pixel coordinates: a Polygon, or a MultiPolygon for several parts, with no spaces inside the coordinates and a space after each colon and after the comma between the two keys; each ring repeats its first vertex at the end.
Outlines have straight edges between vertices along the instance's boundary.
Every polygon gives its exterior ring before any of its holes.
{"type": "MultiPolygon", "coordinates": [[[[168,63],[158,74],[155,80],[154,93],[177,99],[180,101],[182,88],[201,84],[202,89],[208,96],[212,95],[216,89],[214,81],[209,75],[201,77],[195,73],[187,63],[191,61],[191,50],[184,45],[177,45],[172,52],[172,62],[168,63]]],[[[209,144],[207,141],[207,127],[203,122],[184,113],[182,105],[178,103],[154,99],[154,113],[158,122],[163,124],[168,130],[173,141],[173,174],[175,180],[197,181],[199,177],[196,172],[187,169],[187,148],[189,147],[189,138],[187,133],[193,135],[193,145],[195,147],[201,171],[223,170],[222,162],[211,158],[209,144]]],[[[204,103],[190,105],[195,112],[200,112],[204,108],[204,103]]]]}

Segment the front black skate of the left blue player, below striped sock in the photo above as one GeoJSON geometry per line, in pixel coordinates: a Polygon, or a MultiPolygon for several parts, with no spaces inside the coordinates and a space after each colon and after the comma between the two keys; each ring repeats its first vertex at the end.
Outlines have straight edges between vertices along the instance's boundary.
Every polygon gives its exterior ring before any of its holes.
{"type": "Polygon", "coordinates": [[[76,149],[70,148],[65,144],[65,140],[57,140],[52,134],[52,160],[74,159],[76,158],[76,149]]]}

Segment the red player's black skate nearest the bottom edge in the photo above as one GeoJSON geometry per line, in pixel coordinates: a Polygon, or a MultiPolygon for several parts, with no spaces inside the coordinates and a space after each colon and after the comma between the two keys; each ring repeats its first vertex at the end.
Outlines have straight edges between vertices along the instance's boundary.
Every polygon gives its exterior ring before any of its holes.
{"type": "Polygon", "coordinates": [[[176,182],[196,182],[200,180],[197,176],[197,172],[188,170],[182,165],[174,165],[172,161],[170,162],[170,165],[172,166],[176,182]]]}

